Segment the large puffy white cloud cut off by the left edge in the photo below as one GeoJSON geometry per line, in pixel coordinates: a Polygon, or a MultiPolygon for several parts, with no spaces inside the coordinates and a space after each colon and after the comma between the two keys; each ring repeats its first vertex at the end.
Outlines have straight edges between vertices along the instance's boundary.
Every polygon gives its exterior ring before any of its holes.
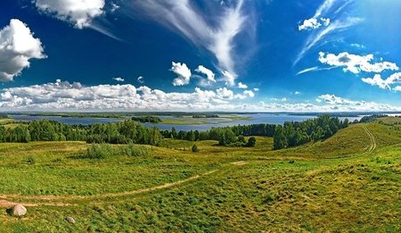
{"type": "Polygon", "coordinates": [[[42,43],[22,21],[12,19],[0,30],[0,81],[11,81],[29,68],[30,59],[45,57],[42,43]]]}

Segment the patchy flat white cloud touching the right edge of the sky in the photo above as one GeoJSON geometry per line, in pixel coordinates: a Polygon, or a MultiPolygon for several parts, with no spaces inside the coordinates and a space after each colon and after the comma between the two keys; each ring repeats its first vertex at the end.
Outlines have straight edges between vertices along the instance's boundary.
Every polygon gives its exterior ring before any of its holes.
{"type": "Polygon", "coordinates": [[[352,73],[364,72],[376,72],[381,71],[397,71],[398,66],[393,62],[372,62],[373,55],[356,55],[348,54],[347,52],[336,54],[324,54],[319,53],[319,62],[328,64],[335,67],[344,67],[344,71],[350,71],[352,73]]]}

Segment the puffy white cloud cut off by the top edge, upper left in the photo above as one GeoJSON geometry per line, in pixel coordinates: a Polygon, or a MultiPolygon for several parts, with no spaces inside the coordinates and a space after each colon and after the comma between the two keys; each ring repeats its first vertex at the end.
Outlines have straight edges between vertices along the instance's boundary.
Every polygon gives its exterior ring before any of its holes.
{"type": "Polygon", "coordinates": [[[104,0],[34,0],[37,9],[61,21],[69,21],[76,28],[91,26],[94,18],[102,15],[104,0]]]}

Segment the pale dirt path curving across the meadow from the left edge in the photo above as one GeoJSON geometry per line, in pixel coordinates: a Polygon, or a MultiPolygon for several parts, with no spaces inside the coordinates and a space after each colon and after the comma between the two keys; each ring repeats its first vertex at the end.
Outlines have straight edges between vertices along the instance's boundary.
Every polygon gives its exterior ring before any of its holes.
{"type": "MultiPolygon", "coordinates": [[[[229,165],[234,165],[234,166],[241,166],[246,164],[246,162],[240,161],[240,162],[231,162],[229,165]]],[[[205,173],[199,174],[192,176],[187,179],[181,179],[176,182],[171,182],[171,183],[166,183],[162,184],[160,186],[156,187],[147,187],[147,188],[141,188],[141,189],[136,189],[132,191],[125,191],[125,192],[120,192],[120,193],[106,193],[106,194],[100,194],[100,195],[94,195],[94,196],[22,196],[22,195],[0,195],[0,207],[11,207],[17,203],[7,201],[6,199],[22,199],[22,200],[31,200],[31,201],[51,201],[52,203],[35,203],[35,204],[29,204],[25,203],[23,205],[25,206],[39,206],[39,205],[52,205],[52,206],[66,206],[66,205],[73,205],[68,203],[69,201],[73,200],[81,200],[81,199],[99,199],[99,198],[109,198],[109,197],[118,197],[118,196],[131,196],[131,195],[136,195],[136,194],[143,194],[143,193],[149,193],[151,191],[156,191],[160,189],[165,189],[168,187],[176,187],[179,185],[182,185],[184,183],[187,183],[189,181],[195,180],[195,179],[200,179],[201,177],[208,176],[212,173],[215,173],[217,171],[221,171],[224,169],[225,166],[223,166],[219,170],[213,170],[213,171],[207,171],[205,173]]]]}

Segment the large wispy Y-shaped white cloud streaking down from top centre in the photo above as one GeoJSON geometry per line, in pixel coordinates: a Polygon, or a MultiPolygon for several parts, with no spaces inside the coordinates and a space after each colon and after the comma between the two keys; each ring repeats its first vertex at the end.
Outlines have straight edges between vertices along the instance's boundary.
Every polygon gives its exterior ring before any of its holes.
{"type": "Polygon", "coordinates": [[[238,0],[235,4],[224,4],[218,11],[206,14],[187,0],[143,0],[127,6],[182,34],[194,45],[206,48],[216,56],[219,70],[236,76],[234,38],[244,29],[251,34],[255,28],[255,22],[244,13],[243,3],[238,0]]]}

